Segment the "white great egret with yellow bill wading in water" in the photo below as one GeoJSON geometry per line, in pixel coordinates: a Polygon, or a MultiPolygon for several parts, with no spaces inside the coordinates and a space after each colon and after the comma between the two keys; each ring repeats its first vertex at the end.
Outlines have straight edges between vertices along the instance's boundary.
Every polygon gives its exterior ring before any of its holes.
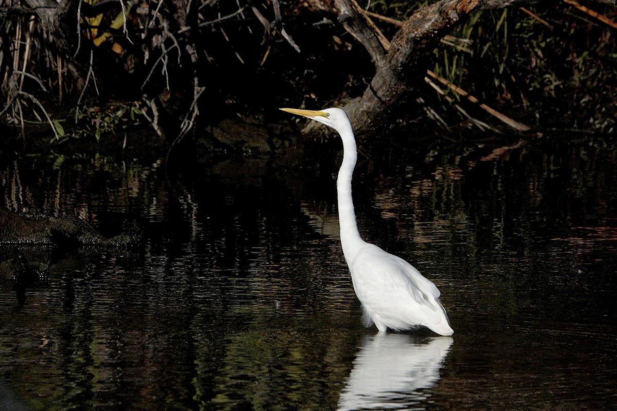
{"type": "Polygon", "coordinates": [[[326,124],[341,135],[343,161],[336,180],[341,246],[355,293],[364,309],[366,327],[375,323],[379,332],[385,332],[387,328],[408,330],[423,325],[437,334],[452,335],[454,331],[439,302],[437,287],[404,259],[360,237],[351,193],[358,154],[347,114],[340,108],[281,110],[326,124]]]}

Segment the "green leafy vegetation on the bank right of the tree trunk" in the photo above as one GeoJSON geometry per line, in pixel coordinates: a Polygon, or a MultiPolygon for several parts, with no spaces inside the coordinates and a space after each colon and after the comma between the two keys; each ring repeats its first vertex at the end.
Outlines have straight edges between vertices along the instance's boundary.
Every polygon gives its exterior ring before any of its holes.
{"type": "MultiPolygon", "coordinates": [[[[614,132],[613,29],[568,6],[535,12],[475,14],[452,33],[465,41],[464,48],[442,43],[436,49],[434,71],[528,124],[614,132]]],[[[447,96],[461,100],[451,90],[447,96]]]]}

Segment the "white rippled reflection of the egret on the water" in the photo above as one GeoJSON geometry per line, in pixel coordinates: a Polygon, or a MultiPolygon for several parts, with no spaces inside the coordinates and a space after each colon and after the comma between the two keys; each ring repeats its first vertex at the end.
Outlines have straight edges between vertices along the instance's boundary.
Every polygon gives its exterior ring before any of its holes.
{"type": "Polygon", "coordinates": [[[429,396],[452,337],[412,337],[378,333],[367,336],[354,360],[339,411],[408,409],[429,396]]]}

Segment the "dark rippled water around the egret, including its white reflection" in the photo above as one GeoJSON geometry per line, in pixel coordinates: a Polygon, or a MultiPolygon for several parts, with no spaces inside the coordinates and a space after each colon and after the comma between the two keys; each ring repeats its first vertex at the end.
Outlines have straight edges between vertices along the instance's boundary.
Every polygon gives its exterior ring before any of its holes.
{"type": "Polygon", "coordinates": [[[452,338],[362,327],[336,152],[249,175],[242,162],[171,177],[104,158],[2,165],[5,207],[79,216],[108,236],[136,220],[144,236],[123,249],[0,246],[0,401],[617,409],[615,143],[470,147],[426,161],[378,152],[355,174],[360,230],[436,283],[452,338]],[[31,272],[15,279],[18,253],[31,272]]]}

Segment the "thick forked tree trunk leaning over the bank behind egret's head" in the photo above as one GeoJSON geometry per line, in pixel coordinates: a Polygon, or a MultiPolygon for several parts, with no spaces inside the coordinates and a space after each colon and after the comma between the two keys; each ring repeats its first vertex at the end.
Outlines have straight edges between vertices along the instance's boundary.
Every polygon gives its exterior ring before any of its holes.
{"type": "MultiPolygon", "coordinates": [[[[397,107],[409,96],[416,84],[423,84],[426,66],[421,62],[453,26],[476,10],[532,4],[535,1],[441,0],[417,10],[404,22],[391,43],[381,45],[381,51],[376,41],[378,36],[366,34],[366,21],[357,17],[360,13],[352,7],[352,2],[337,0],[342,20],[353,22],[345,24],[346,29],[362,42],[376,63],[375,76],[363,96],[343,107],[354,124],[357,137],[362,138],[379,131],[389,120],[391,108],[397,107]]],[[[316,132],[315,124],[309,124],[305,132],[316,132]]]]}

